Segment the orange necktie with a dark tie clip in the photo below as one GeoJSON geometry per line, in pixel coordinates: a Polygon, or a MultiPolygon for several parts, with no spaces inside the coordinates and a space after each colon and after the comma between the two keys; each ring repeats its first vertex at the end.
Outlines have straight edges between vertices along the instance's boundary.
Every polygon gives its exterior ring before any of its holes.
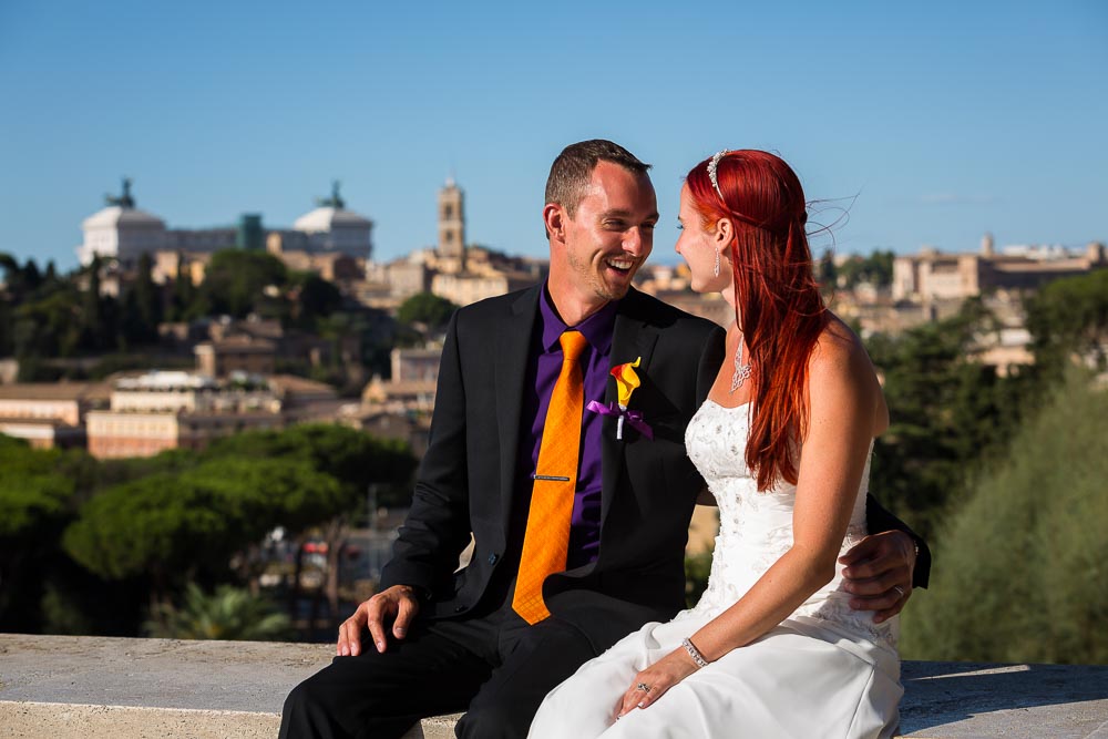
{"type": "Polygon", "coordinates": [[[543,603],[543,581],[551,573],[565,569],[573,494],[577,487],[581,414],[585,404],[584,380],[577,360],[588,341],[579,331],[566,331],[560,342],[562,372],[554,383],[543,424],[543,440],[538,444],[527,531],[512,598],[512,609],[529,624],[537,624],[551,615],[543,603]]]}

